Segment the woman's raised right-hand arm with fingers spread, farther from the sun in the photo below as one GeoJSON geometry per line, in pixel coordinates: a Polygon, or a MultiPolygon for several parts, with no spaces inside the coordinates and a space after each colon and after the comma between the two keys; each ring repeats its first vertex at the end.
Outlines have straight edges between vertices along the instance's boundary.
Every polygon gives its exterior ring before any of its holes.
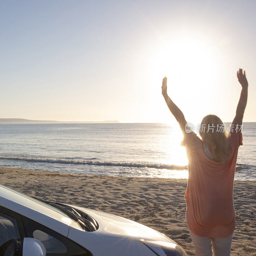
{"type": "Polygon", "coordinates": [[[245,71],[243,74],[243,69],[240,68],[237,71],[237,78],[239,83],[242,85],[242,92],[240,95],[240,99],[236,108],[236,116],[232,122],[233,125],[242,125],[243,117],[244,117],[244,109],[247,103],[247,95],[248,95],[248,82],[245,76],[245,71]]]}

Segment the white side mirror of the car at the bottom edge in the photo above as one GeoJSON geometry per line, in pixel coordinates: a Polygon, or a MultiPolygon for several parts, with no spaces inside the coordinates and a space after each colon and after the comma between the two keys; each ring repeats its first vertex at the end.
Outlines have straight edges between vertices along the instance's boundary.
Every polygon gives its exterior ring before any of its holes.
{"type": "Polygon", "coordinates": [[[21,241],[21,256],[45,256],[44,244],[35,238],[24,237],[21,241]]]}

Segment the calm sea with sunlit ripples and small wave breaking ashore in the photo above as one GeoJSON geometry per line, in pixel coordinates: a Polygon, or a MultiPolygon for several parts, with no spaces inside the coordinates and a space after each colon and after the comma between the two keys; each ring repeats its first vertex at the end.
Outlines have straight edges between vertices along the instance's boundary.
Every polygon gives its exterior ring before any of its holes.
{"type": "MultiPolygon", "coordinates": [[[[188,178],[178,126],[0,124],[0,166],[87,175],[188,178]]],[[[256,123],[244,123],[235,180],[256,180],[256,123]]]]}

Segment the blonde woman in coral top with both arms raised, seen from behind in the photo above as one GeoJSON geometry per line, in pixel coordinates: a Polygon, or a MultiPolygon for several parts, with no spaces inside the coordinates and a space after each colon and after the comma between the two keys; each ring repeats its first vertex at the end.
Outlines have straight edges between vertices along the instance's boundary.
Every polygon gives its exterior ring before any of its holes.
{"type": "Polygon", "coordinates": [[[233,184],[238,147],[242,143],[242,121],[247,103],[248,82],[245,72],[237,71],[242,85],[236,116],[227,134],[218,116],[205,116],[200,125],[200,136],[188,129],[181,110],[167,95],[164,77],[162,94],[180,125],[188,156],[188,186],[186,221],[195,246],[196,256],[230,255],[232,235],[236,226],[233,203],[233,184]]]}

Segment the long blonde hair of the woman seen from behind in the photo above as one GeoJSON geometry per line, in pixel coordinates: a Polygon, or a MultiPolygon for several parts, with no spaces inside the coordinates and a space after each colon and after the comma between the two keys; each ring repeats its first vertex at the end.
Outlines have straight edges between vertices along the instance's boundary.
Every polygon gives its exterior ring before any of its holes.
{"type": "Polygon", "coordinates": [[[213,161],[225,163],[229,156],[228,133],[221,119],[215,115],[207,115],[200,126],[200,136],[213,161]]]}

